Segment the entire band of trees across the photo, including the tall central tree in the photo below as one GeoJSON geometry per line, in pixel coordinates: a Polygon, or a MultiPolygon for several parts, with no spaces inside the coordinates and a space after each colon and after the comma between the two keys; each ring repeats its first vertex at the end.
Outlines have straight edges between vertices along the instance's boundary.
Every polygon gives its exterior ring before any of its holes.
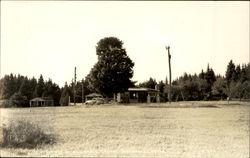
{"type": "MultiPolygon", "coordinates": [[[[127,55],[123,42],[116,37],[101,39],[96,45],[98,61],[89,74],[74,85],[65,83],[60,88],[51,79],[44,81],[27,78],[22,75],[5,75],[0,79],[0,99],[9,100],[11,106],[27,106],[29,100],[36,97],[48,97],[54,100],[54,105],[68,105],[69,99],[82,102],[82,95],[97,92],[110,98],[119,92],[125,92],[129,87],[148,87],[160,90],[161,101],[168,101],[169,83],[156,82],[150,77],[148,81],[136,83],[132,81],[134,62],[127,55]],[[83,94],[84,93],[84,94],[83,94]]],[[[165,73],[165,72],[162,72],[165,73]]],[[[214,100],[250,98],[250,65],[235,65],[231,60],[227,66],[226,75],[215,75],[208,65],[199,74],[184,73],[172,82],[171,98],[173,101],[214,100]]]]}

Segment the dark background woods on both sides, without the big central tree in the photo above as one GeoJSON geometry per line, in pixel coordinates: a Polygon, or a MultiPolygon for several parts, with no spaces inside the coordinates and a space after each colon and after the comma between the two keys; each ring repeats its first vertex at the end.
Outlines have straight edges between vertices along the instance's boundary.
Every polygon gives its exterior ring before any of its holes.
{"type": "MultiPolygon", "coordinates": [[[[82,102],[82,95],[98,92],[93,88],[86,76],[85,80],[77,81],[75,85],[76,102],[82,102]],[[84,94],[83,94],[84,93],[84,94]]],[[[110,76],[111,77],[111,76],[110,76]]],[[[135,82],[132,82],[135,83],[135,82]]],[[[161,101],[168,101],[169,83],[157,82],[152,77],[145,82],[132,85],[132,87],[156,88],[160,91],[161,101]]],[[[44,81],[43,76],[39,79],[28,78],[22,75],[5,75],[0,79],[0,99],[9,100],[10,106],[28,106],[29,100],[36,97],[48,97],[54,100],[55,106],[68,105],[69,98],[73,100],[73,81],[60,88],[51,79],[44,81]]],[[[109,94],[112,92],[110,91],[109,94]]],[[[215,75],[210,66],[206,71],[198,75],[184,73],[172,82],[172,100],[220,100],[227,97],[250,99],[250,64],[242,66],[231,60],[227,66],[225,77],[215,75]]]]}

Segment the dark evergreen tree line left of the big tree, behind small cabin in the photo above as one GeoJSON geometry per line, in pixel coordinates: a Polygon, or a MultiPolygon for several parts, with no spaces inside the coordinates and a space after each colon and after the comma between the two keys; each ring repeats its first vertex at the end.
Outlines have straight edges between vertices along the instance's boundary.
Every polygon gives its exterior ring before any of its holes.
{"type": "MultiPolygon", "coordinates": [[[[60,88],[51,79],[44,81],[42,75],[37,80],[34,77],[11,73],[0,79],[0,100],[5,100],[6,107],[28,107],[31,99],[42,97],[53,99],[55,106],[65,106],[68,105],[69,98],[71,102],[73,100],[73,86],[73,82],[69,85],[66,82],[65,86],[60,88]]],[[[85,95],[91,92],[86,82],[78,81],[75,85],[76,102],[82,102],[82,88],[85,95]]]]}

